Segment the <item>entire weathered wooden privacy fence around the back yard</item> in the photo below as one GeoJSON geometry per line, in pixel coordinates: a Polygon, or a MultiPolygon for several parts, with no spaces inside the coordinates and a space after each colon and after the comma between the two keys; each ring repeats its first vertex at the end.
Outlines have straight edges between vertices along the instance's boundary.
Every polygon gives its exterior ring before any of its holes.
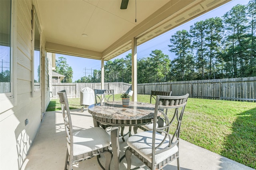
{"type": "MultiPolygon", "coordinates": [[[[79,98],[84,87],[100,89],[100,83],[53,83],[53,99],[58,98],[57,92],[66,89],[69,98],[79,98]]],[[[131,84],[116,82],[105,83],[104,89],[114,89],[115,94],[132,89],[131,84]]],[[[162,83],[143,83],[137,85],[138,94],[150,95],[154,91],[172,91],[172,95],[184,95],[202,99],[218,99],[233,101],[256,101],[256,77],[233,79],[211,79],[176,81],[162,83]]]]}

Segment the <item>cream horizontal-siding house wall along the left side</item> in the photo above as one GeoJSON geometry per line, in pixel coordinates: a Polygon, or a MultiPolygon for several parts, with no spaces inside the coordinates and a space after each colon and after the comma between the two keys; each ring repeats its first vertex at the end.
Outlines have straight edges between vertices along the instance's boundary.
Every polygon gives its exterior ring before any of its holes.
{"type": "MultiPolygon", "coordinates": [[[[26,154],[36,136],[41,123],[42,94],[44,107],[50,102],[48,80],[52,79],[51,54],[42,58],[44,68],[41,81],[42,91],[35,91],[32,97],[32,0],[12,0],[13,38],[13,85],[14,97],[0,102],[0,169],[19,170],[26,160],[26,154]],[[47,67],[47,68],[46,68],[47,67]],[[49,71],[50,70],[50,71],[49,71]],[[49,74],[49,78],[48,78],[49,74]],[[25,126],[25,120],[28,124],[25,126]]],[[[35,4],[36,5],[36,4],[35,4]]],[[[38,10],[36,11],[39,12],[38,10]]],[[[38,17],[40,18],[40,17],[38,17]]],[[[40,23],[40,21],[39,21],[40,23]]],[[[45,41],[41,34],[44,51],[45,41]]],[[[49,82],[51,86],[51,82],[49,82]]]]}

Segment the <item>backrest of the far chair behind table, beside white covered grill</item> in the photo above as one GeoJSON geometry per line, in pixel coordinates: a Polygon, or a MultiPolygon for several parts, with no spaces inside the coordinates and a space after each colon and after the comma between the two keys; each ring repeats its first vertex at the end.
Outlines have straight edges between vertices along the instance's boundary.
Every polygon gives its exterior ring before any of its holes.
{"type": "Polygon", "coordinates": [[[104,101],[110,101],[110,99],[113,99],[114,101],[114,90],[101,90],[101,89],[94,89],[94,95],[95,95],[95,102],[101,103],[102,100],[104,101]]]}

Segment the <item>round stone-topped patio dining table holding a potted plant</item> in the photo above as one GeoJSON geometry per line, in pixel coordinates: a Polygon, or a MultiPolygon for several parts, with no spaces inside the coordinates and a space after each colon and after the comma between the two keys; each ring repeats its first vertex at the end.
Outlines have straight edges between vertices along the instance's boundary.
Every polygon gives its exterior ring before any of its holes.
{"type": "MultiPolygon", "coordinates": [[[[100,123],[111,125],[111,145],[115,170],[119,170],[119,131],[122,126],[141,126],[151,123],[154,118],[154,104],[132,102],[127,107],[122,106],[122,101],[96,103],[88,107],[92,114],[94,127],[100,123]]],[[[159,113],[160,114],[160,113],[159,113]]],[[[129,134],[131,134],[129,128],[129,134]]]]}

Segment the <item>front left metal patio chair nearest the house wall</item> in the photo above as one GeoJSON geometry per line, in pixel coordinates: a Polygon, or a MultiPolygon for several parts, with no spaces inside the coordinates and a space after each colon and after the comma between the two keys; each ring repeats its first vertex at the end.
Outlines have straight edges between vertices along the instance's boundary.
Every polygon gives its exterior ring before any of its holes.
{"type": "Polygon", "coordinates": [[[65,170],[72,170],[73,163],[87,160],[94,156],[97,156],[98,163],[102,169],[110,170],[110,162],[112,159],[110,135],[100,127],[93,127],[74,132],[66,91],[59,91],[58,95],[60,97],[68,146],[65,170]],[[104,167],[99,160],[100,154],[103,153],[106,157],[104,167]]]}

